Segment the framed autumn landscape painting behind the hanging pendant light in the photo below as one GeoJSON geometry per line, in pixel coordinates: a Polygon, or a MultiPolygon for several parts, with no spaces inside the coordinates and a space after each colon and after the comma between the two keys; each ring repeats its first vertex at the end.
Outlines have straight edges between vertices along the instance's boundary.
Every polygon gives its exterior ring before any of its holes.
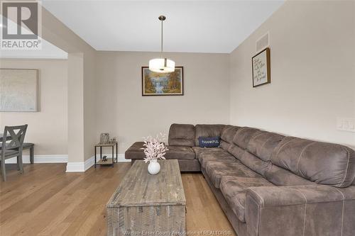
{"type": "Polygon", "coordinates": [[[142,96],[184,95],[184,67],[175,72],[157,73],[142,67],[142,96]]]}

